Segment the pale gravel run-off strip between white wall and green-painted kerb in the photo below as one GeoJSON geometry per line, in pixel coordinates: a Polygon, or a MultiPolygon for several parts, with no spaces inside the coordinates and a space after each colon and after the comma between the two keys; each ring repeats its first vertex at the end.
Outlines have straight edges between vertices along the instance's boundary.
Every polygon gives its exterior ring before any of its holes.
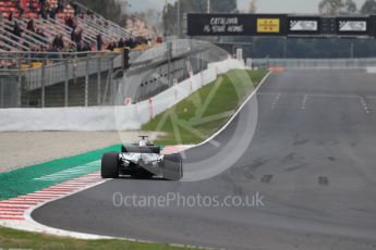
{"type": "MultiPolygon", "coordinates": [[[[0,133],[0,173],[107,148],[135,142],[145,133],[31,132],[0,133]]],[[[146,133],[147,135],[147,133],[146,133]]],[[[149,135],[154,140],[156,135],[149,135]]]]}

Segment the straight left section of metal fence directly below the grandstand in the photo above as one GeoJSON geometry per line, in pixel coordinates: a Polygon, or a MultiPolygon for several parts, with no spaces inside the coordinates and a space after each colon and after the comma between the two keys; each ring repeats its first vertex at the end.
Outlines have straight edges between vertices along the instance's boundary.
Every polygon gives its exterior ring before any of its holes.
{"type": "Polygon", "coordinates": [[[1,52],[0,108],[111,104],[122,68],[122,53],[1,52]]]}

